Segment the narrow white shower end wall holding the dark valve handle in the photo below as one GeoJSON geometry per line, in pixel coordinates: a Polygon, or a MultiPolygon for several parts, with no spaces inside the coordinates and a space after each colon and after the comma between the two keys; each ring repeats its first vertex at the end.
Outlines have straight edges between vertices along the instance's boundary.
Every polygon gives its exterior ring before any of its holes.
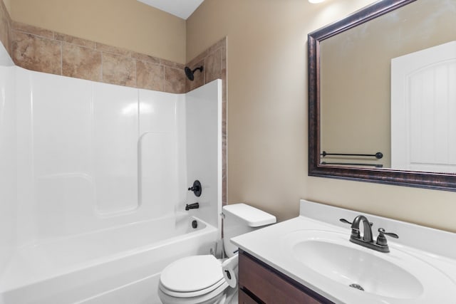
{"type": "Polygon", "coordinates": [[[202,194],[187,193],[187,202],[199,203],[195,214],[220,227],[222,212],[222,80],[187,93],[187,179],[198,179],[202,194]]]}

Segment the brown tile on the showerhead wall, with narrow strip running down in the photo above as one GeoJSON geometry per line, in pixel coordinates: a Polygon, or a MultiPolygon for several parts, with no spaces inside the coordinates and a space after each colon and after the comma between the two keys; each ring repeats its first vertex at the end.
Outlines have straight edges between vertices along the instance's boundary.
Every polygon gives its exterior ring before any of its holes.
{"type": "Polygon", "coordinates": [[[195,80],[186,80],[187,92],[215,79],[222,79],[222,201],[227,204],[227,38],[215,43],[193,58],[187,66],[192,70],[203,66],[203,72],[195,72],[195,80]]]}

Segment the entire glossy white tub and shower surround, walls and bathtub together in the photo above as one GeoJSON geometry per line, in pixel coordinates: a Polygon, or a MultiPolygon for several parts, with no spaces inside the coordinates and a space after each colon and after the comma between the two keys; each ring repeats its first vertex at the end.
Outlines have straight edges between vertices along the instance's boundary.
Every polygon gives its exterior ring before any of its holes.
{"type": "Polygon", "coordinates": [[[164,93],[26,70],[0,51],[0,194],[9,201],[0,212],[0,297],[107,303],[134,294],[145,297],[138,303],[157,303],[150,286],[161,269],[208,253],[219,235],[222,81],[164,93]],[[200,209],[185,211],[195,178],[203,184],[200,209]],[[196,233],[202,242],[189,234],[147,239],[150,231],[161,236],[163,225],[134,228],[164,217],[167,231],[191,227],[189,216],[204,223],[196,233]],[[73,241],[91,251],[71,249],[73,241]],[[167,241],[172,248],[152,250],[167,241]],[[104,242],[120,247],[106,252],[104,242]],[[81,286],[87,278],[100,285],[81,286]]]}

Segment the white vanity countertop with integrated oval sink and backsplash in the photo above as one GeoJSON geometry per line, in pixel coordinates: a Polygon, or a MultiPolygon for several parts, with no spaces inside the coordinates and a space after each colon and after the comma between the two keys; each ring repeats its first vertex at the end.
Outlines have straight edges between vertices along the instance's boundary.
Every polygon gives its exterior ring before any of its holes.
{"type": "MultiPolygon", "coordinates": [[[[334,303],[456,303],[456,234],[304,200],[301,200],[300,213],[300,216],[289,221],[237,236],[232,239],[232,242],[334,303]],[[387,237],[390,253],[373,251],[349,241],[351,227],[349,224],[341,223],[339,219],[345,218],[353,221],[360,214],[367,216],[368,220],[374,223],[373,239],[376,239],[378,235],[376,231],[379,226],[400,236],[398,240],[393,239],[393,241],[387,237]],[[320,236],[323,236],[324,239],[325,234],[334,236],[333,239],[336,243],[342,244],[343,248],[349,250],[355,249],[355,252],[360,253],[361,256],[368,254],[368,256],[373,256],[373,261],[381,260],[386,261],[387,265],[398,265],[405,269],[406,274],[411,273],[412,277],[417,278],[420,283],[414,285],[413,281],[418,281],[413,279],[412,284],[406,286],[407,283],[401,281],[398,276],[391,277],[387,268],[383,273],[383,268],[377,267],[376,271],[380,275],[371,280],[371,283],[374,282],[371,286],[366,286],[375,290],[371,293],[368,288],[366,291],[361,291],[328,278],[328,275],[324,276],[315,269],[328,270],[329,276],[334,276],[334,273],[337,276],[338,270],[328,269],[328,267],[314,268],[312,265],[301,263],[301,261],[306,261],[305,253],[298,255],[292,248],[296,248],[296,244],[300,248],[304,248],[303,246],[306,245],[299,244],[299,239],[304,236],[307,238],[311,236],[311,239],[316,236],[315,240],[319,241],[320,236]],[[387,285],[390,285],[390,290],[393,291],[388,291],[388,287],[383,288],[385,291],[381,286],[372,286],[377,285],[376,281],[386,281],[387,285]],[[391,288],[391,286],[393,287],[391,288]]],[[[333,255],[328,256],[332,259],[332,256],[336,258],[337,254],[334,252],[333,255]]],[[[324,260],[320,261],[323,261],[322,264],[324,263],[324,260]]],[[[341,261],[340,257],[337,261],[341,261]]],[[[366,267],[367,276],[371,274],[371,269],[376,267],[373,263],[368,263],[368,266],[366,267]]],[[[363,282],[353,283],[363,285],[363,282]]]]}

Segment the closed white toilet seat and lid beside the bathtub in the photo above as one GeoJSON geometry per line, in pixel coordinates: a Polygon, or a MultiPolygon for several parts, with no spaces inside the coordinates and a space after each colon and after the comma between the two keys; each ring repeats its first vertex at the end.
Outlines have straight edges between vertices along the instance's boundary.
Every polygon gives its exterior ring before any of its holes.
{"type": "Polygon", "coordinates": [[[192,298],[223,291],[228,284],[222,264],[212,255],[189,256],[168,265],[160,276],[162,293],[176,298],[192,298]]]}

